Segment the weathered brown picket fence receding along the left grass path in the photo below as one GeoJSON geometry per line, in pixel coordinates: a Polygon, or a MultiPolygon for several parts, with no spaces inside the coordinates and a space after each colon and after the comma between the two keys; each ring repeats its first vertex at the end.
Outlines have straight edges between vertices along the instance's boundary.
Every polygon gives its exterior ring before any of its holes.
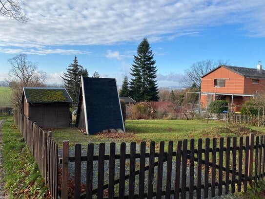
{"type": "Polygon", "coordinates": [[[21,113],[14,114],[14,121],[33,154],[51,196],[58,198],[58,145],[51,135],[43,131],[21,113]]]}

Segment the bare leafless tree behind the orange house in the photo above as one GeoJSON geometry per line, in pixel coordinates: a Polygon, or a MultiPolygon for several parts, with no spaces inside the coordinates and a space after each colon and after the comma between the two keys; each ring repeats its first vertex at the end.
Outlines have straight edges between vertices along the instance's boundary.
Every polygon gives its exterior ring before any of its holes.
{"type": "Polygon", "coordinates": [[[201,88],[202,76],[219,65],[227,64],[229,64],[228,60],[217,60],[216,62],[213,62],[212,60],[202,60],[196,62],[192,64],[190,68],[185,70],[182,84],[185,87],[191,87],[193,84],[195,84],[197,88],[201,88]]]}

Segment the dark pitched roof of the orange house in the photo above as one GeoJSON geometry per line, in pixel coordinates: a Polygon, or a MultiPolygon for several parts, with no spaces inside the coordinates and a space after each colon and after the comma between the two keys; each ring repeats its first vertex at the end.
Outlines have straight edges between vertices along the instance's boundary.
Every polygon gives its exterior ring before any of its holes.
{"type": "MultiPolygon", "coordinates": [[[[214,70],[224,67],[228,70],[231,70],[239,75],[242,75],[246,78],[258,78],[258,79],[265,79],[265,70],[259,71],[257,68],[248,68],[248,67],[239,67],[239,66],[225,66],[220,65],[211,70],[210,72],[206,73],[204,76],[208,75],[209,73],[213,72],[214,70]]],[[[204,77],[202,76],[202,78],[204,77]]]]}

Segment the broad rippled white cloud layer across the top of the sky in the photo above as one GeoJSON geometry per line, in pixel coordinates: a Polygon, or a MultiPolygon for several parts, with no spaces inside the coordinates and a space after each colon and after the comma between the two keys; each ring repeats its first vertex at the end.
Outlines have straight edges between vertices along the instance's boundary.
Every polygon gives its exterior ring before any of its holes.
{"type": "Polygon", "coordinates": [[[22,8],[29,18],[26,24],[0,16],[0,24],[4,24],[0,46],[117,44],[139,42],[143,37],[157,42],[226,23],[242,24],[250,36],[265,37],[263,0],[27,0],[24,3],[22,8]]]}

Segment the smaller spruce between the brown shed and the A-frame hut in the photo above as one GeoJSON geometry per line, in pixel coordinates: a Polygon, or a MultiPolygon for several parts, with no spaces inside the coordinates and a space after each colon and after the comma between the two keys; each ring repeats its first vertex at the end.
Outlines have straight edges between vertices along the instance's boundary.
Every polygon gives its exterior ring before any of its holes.
{"type": "Polygon", "coordinates": [[[74,63],[66,68],[67,72],[64,72],[61,78],[64,81],[64,87],[67,89],[73,101],[78,102],[81,76],[88,76],[88,72],[86,69],[83,69],[83,66],[78,64],[76,56],[73,61],[74,63]]]}

